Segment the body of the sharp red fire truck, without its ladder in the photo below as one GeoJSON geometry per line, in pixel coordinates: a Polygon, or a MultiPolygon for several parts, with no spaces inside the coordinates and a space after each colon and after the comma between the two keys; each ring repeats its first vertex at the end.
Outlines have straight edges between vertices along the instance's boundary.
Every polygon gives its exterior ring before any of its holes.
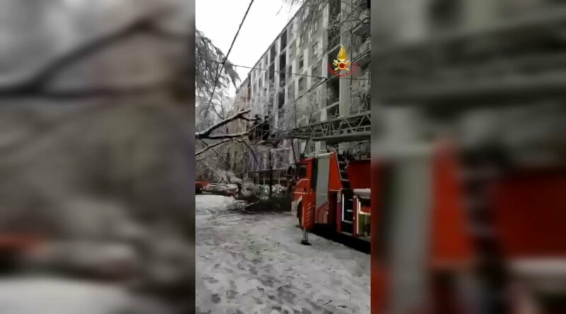
{"type": "Polygon", "coordinates": [[[370,170],[370,159],[336,152],[301,159],[291,206],[304,231],[301,243],[308,244],[308,231],[316,225],[369,241],[370,170]]]}

